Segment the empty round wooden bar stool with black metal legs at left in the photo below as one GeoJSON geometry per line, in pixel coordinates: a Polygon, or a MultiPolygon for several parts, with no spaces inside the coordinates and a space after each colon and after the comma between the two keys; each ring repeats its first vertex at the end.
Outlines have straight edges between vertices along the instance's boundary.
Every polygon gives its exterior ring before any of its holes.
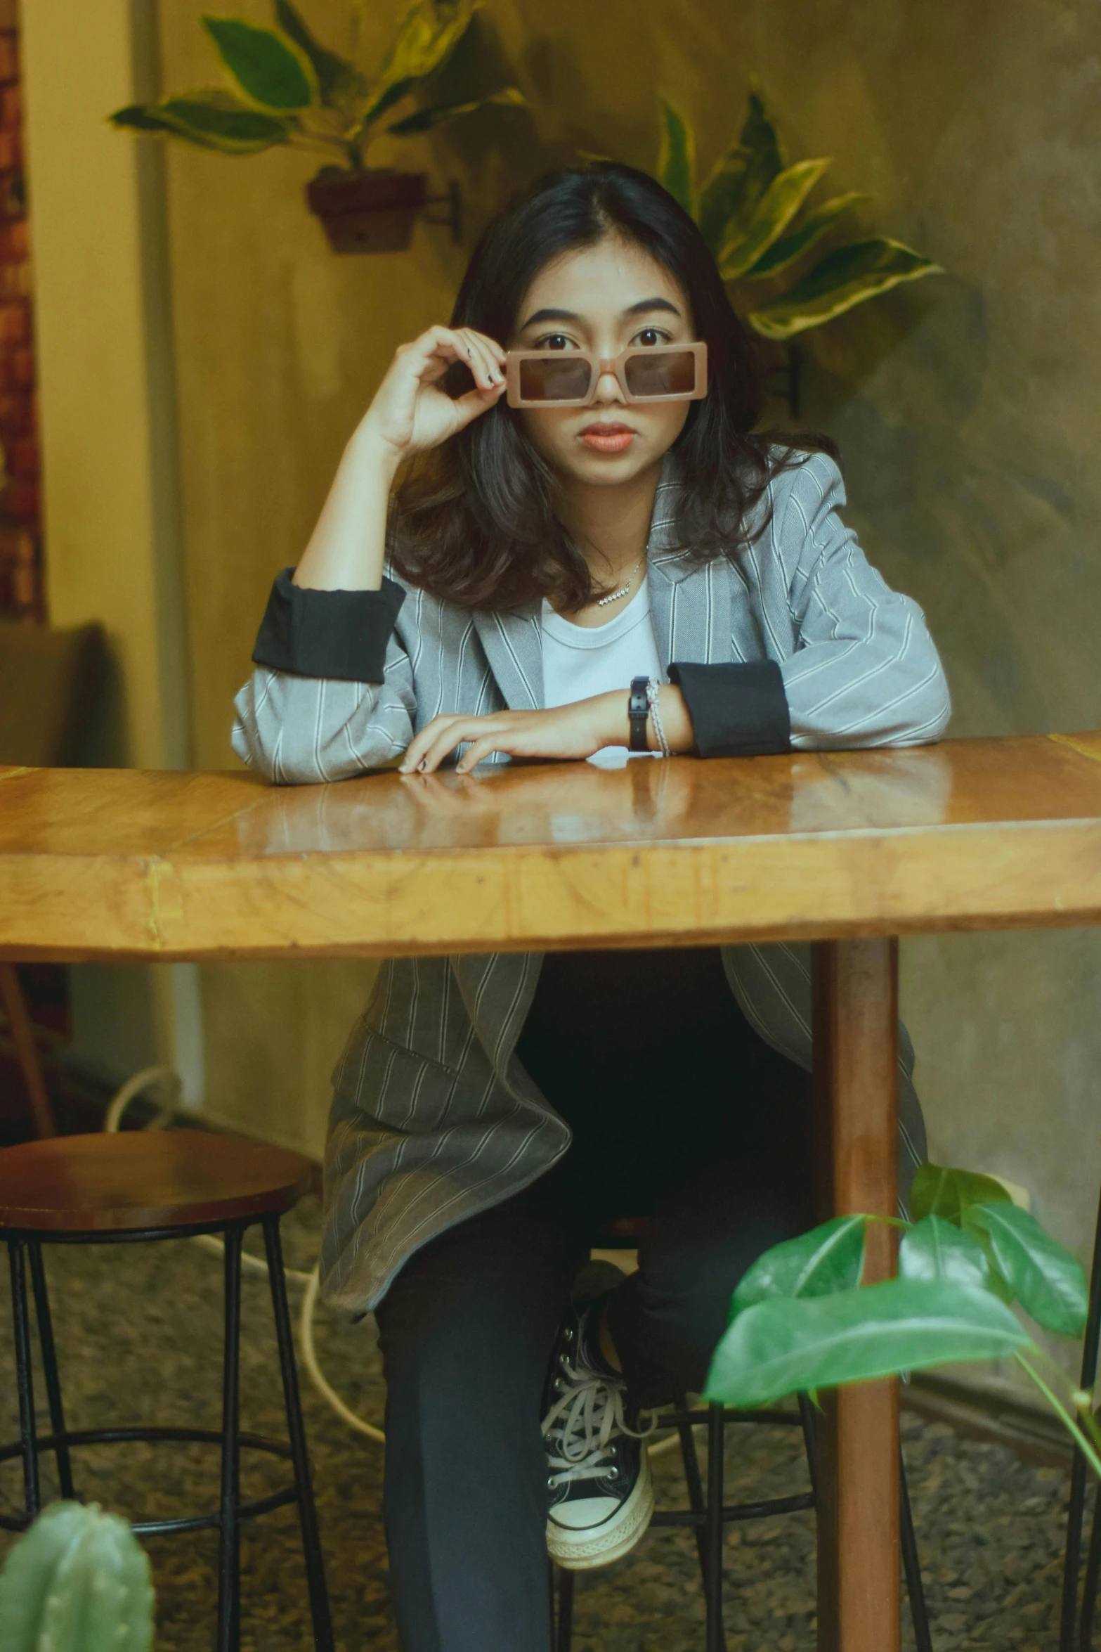
{"type": "Polygon", "coordinates": [[[81,1446],[205,1444],[221,1447],[221,1498],[211,1513],[173,1520],[137,1520],[139,1535],[218,1530],[216,1652],[238,1652],[241,1637],[239,1528],[243,1520],[297,1503],[302,1553],[317,1652],[332,1652],[328,1594],[317,1533],[314,1490],[305,1454],[299,1381],[282,1269],[279,1218],[309,1188],[309,1160],[284,1148],[200,1130],[127,1132],[124,1135],[53,1137],[0,1151],[0,1237],[8,1246],[20,1441],[0,1449],[0,1464],[23,1462],[23,1512],[0,1515],[7,1531],[23,1531],[41,1507],[38,1457],[53,1452],[61,1495],[76,1497],[71,1450],[81,1446]],[[239,1427],[241,1241],[254,1222],[264,1251],[279,1345],[279,1370],[289,1441],[272,1441],[239,1427]],[[46,1297],[45,1244],[134,1244],[218,1234],[224,1244],[224,1350],[221,1429],[109,1427],[68,1429],[46,1297]],[[51,1432],[35,1426],[30,1262],[41,1341],[51,1432]],[[291,1462],[294,1479],[266,1497],[241,1502],[241,1450],[267,1452],[291,1462]]]}

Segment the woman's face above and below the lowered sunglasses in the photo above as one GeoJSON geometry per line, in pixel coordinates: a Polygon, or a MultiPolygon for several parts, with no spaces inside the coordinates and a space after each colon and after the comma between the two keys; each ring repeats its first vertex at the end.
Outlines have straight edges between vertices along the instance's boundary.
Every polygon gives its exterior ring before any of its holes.
{"type": "MultiPolygon", "coordinates": [[[[634,241],[609,235],[540,269],[518,311],[512,350],[591,350],[695,337],[678,282],[634,241]]],[[[602,373],[588,408],[523,408],[530,439],[563,477],[596,486],[632,481],[657,464],[685,426],[688,401],[624,401],[602,373]]]]}

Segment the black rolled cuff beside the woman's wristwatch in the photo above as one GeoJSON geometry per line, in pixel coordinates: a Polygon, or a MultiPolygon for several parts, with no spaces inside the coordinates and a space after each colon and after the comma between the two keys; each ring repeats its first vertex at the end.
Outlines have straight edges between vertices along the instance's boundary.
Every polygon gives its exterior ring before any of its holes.
{"type": "Polygon", "coordinates": [[[774,659],[669,667],[685,697],[700,757],[791,752],[791,714],[774,659]]]}

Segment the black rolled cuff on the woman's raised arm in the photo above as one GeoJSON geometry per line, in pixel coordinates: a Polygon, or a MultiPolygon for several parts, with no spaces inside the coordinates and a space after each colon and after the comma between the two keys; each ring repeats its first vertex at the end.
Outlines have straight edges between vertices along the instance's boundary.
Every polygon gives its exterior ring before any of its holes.
{"type": "Polygon", "coordinates": [[[381,682],[403,588],[383,578],[381,591],[310,591],[291,582],[292,572],[276,577],[253,664],[297,677],[381,682]]]}

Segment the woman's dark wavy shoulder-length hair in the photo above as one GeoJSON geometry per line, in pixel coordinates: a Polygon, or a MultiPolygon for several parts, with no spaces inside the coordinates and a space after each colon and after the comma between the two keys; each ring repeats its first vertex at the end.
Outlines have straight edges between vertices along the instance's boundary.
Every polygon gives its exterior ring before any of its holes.
{"type": "MultiPolygon", "coordinates": [[[[708,393],[692,403],[673,446],[687,479],[675,540],[700,560],[728,555],[744,545],[769,477],[830,444],[754,434],[763,388],[749,339],[697,225],[660,183],[611,162],[535,182],[485,228],[451,325],[507,345],[540,269],[607,235],[634,241],[678,281],[697,337],[706,342],[708,393]]],[[[470,385],[459,363],[444,380],[451,395],[470,385]]],[[[568,613],[583,608],[602,593],[558,517],[556,497],[555,472],[502,400],[403,476],[391,525],[395,568],[461,608],[508,610],[535,598],[568,613]]],[[[754,519],[753,537],[766,522],[768,514],[754,519]]]]}

